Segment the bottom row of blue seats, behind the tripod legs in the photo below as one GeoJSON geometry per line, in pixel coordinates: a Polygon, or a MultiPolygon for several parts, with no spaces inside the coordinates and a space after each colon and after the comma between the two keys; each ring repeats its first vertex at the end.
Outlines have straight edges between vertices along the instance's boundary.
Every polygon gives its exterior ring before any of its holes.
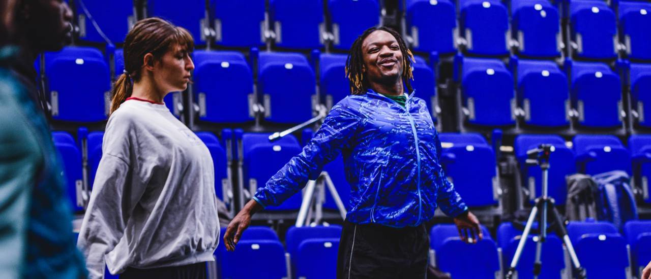
{"type": "MultiPolygon", "coordinates": [[[[460,240],[453,224],[435,225],[430,231],[434,252],[430,261],[452,278],[495,278],[496,273],[508,269],[522,232],[512,223],[497,228],[497,239],[486,227],[482,230],[484,239],[469,245],[460,240]]],[[[629,267],[633,267],[633,274],[641,271],[651,260],[647,245],[650,230],[650,221],[630,221],[623,234],[610,223],[568,224],[568,234],[588,278],[628,278],[629,267]]],[[[291,278],[335,278],[340,235],[340,226],[292,227],[286,234],[285,249],[273,230],[253,226],[244,232],[234,252],[227,252],[220,243],[215,251],[217,273],[221,278],[262,278],[261,273],[265,278],[283,278],[289,273],[291,278]],[[252,262],[256,268],[247,268],[252,262]]],[[[516,269],[518,278],[533,278],[536,241],[538,237],[527,238],[516,269]]],[[[542,248],[543,268],[538,278],[571,278],[566,276],[571,264],[564,258],[562,240],[550,234],[542,248]]]]}

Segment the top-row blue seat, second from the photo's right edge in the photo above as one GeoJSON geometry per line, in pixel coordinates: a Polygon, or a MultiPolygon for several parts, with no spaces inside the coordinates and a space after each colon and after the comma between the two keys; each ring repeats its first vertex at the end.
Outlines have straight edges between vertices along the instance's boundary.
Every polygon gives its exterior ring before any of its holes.
{"type": "Polygon", "coordinates": [[[603,1],[570,2],[570,36],[577,44],[579,57],[611,59],[616,57],[615,12],[603,1]]]}

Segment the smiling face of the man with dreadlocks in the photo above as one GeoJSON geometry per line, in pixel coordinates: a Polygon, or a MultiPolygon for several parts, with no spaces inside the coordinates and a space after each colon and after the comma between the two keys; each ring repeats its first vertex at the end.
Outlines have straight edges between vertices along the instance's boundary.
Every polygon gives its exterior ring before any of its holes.
{"type": "Polygon", "coordinates": [[[362,53],[370,82],[390,84],[402,79],[402,51],[391,33],[384,30],[370,33],[362,42],[362,53]]]}

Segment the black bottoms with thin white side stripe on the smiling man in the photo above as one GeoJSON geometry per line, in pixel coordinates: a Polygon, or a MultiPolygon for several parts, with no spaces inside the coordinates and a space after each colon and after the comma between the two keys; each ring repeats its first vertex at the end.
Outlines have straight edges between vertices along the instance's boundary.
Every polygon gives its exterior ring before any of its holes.
{"type": "Polygon", "coordinates": [[[392,228],[344,221],[337,278],[425,278],[429,250],[425,224],[392,228]]]}

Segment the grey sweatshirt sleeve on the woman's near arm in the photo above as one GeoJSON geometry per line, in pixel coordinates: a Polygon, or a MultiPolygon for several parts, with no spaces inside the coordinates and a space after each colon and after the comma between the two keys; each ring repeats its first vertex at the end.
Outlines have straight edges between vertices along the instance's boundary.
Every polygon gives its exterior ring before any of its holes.
{"type": "MultiPolygon", "coordinates": [[[[102,159],[95,175],[89,206],[77,247],[86,259],[89,278],[104,278],[104,257],[120,241],[133,208],[145,187],[133,178],[131,119],[113,115],[107,123],[102,159]]],[[[124,115],[122,115],[124,116],[124,115]]]]}

